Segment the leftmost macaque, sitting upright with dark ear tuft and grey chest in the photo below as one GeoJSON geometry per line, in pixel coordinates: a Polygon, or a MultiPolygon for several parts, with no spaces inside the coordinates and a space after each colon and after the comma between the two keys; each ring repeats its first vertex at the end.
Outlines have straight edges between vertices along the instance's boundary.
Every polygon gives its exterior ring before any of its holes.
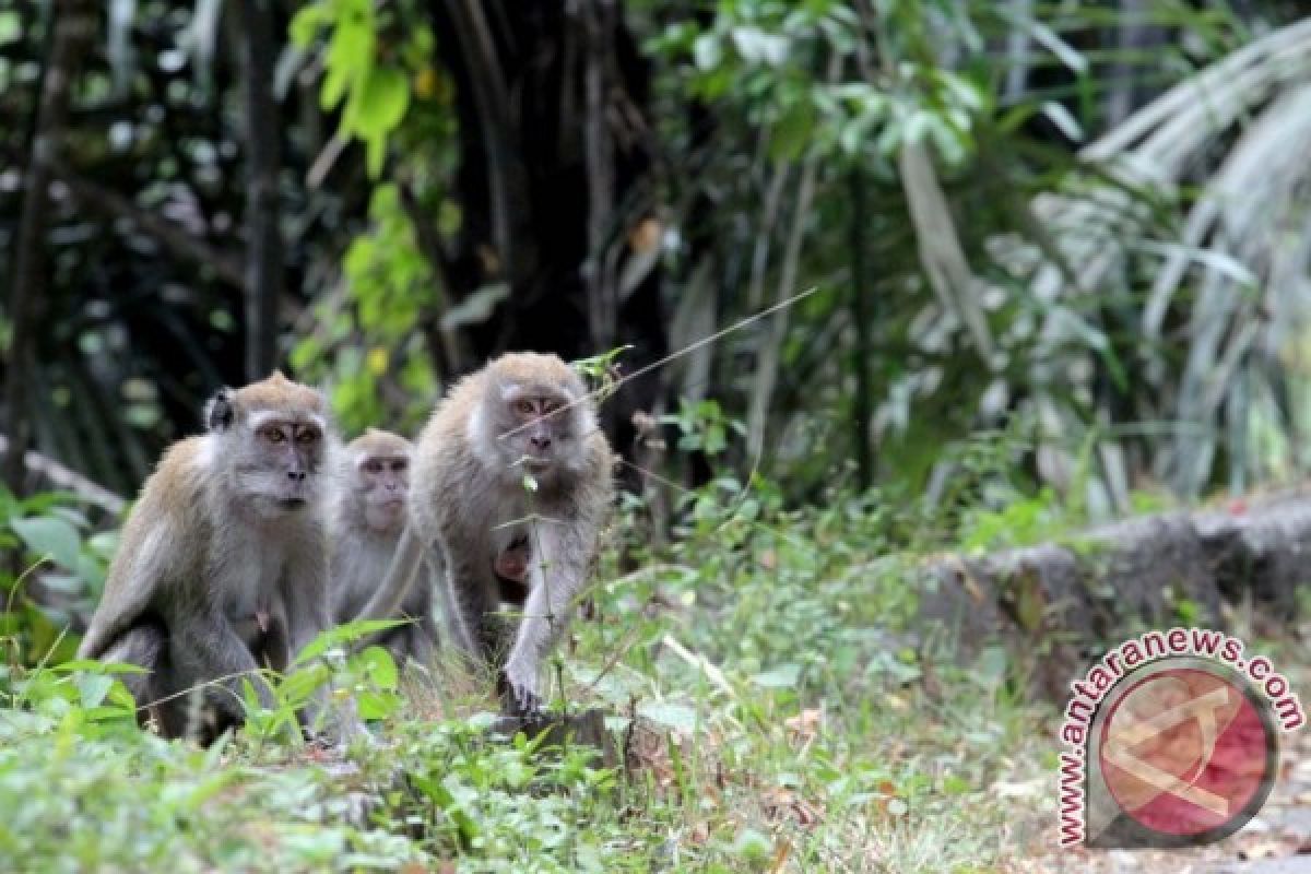
{"type": "Polygon", "coordinates": [[[205,425],[142,487],[79,656],[146,668],[122,675],[143,721],[208,743],[243,721],[244,680],[274,706],[257,671],[286,671],[329,626],[324,463],[336,438],[323,396],[282,373],[219,389],[205,425]]]}

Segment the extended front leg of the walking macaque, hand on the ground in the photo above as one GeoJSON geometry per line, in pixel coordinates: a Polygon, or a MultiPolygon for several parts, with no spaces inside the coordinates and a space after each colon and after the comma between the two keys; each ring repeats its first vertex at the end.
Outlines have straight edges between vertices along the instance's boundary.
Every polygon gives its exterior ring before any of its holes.
{"type": "Polygon", "coordinates": [[[590,554],[573,527],[541,523],[528,570],[528,600],[505,662],[510,705],[520,715],[541,706],[541,662],[564,633],[582,588],[590,554]]]}

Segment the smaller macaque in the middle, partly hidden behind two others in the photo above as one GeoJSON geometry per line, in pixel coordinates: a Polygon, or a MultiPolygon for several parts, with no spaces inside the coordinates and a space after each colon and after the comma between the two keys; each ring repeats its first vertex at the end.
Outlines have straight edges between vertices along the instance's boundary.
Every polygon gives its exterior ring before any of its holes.
{"type": "MultiPolygon", "coordinates": [[[[405,438],[375,428],[346,446],[329,539],[329,579],[337,622],[357,618],[387,574],[405,531],[413,451],[405,438]]],[[[388,617],[409,618],[412,624],[383,632],[378,638],[400,666],[406,659],[418,664],[431,662],[437,625],[430,582],[429,574],[421,573],[399,613],[388,617]]]]}

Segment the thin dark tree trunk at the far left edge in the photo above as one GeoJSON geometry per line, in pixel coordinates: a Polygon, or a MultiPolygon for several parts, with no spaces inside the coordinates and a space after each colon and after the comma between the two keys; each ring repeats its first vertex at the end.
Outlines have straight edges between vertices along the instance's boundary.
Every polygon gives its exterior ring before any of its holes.
{"type": "Polygon", "coordinates": [[[24,459],[31,443],[29,385],[34,366],[33,334],[46,292],[46,225],[50,212],[51,165],[68,124],[72,81],[96,30],[96,7],[89,0],[55,0],[51,4],[49,63],[41,85],[37,123],[28,162],[26,191],[14,244],[14,276],[9,292],[9,324],[13,339],[5,368],[5,410],[9,418],[9,449],[4,480],[18,493],[24,487],[24,459]]]}

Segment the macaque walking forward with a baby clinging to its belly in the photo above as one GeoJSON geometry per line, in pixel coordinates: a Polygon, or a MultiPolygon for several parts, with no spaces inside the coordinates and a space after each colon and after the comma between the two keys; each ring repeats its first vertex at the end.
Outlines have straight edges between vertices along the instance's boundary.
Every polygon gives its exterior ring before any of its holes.
{"type": "Polygon", "coordinates": [[[610,514],[611,466],[586,387],[557,356],[509,354],[467,376],[420,434],[410,528],[364,613],[391,615],[430,549],[456,646],[501,668],[511,712],[535,713],[543,660],[573,613],[610,514]],[[522,617],[498,621],[502,579],[513,583],[522,570],[522,617]]]}

